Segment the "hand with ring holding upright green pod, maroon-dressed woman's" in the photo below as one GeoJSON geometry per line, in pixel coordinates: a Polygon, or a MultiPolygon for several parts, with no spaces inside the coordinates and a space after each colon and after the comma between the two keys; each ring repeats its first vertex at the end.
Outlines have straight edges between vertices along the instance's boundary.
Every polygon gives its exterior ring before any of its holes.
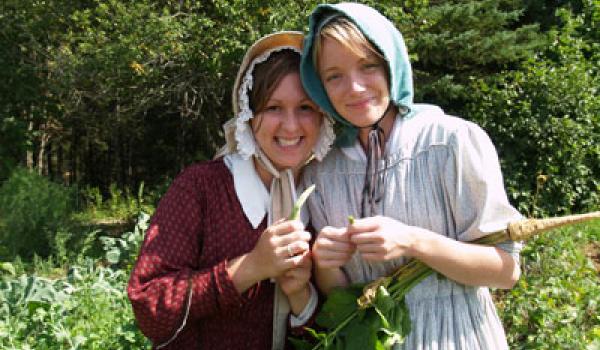
{"type": "Polygon", "coordinates": [[[310,233],[298,220],[279,220],[262,233],[249,261],[257,269],[259,280],[275,278],[300,266],[309,252],[310,233]]]}

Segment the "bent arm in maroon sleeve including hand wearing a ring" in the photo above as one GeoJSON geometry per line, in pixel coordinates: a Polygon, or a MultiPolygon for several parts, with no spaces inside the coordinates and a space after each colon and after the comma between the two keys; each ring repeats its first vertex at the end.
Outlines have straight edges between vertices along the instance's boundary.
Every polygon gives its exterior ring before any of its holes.
{"type": "MultiPolygon", "coordinates": [[[[260,284],[256,282],[272,273],[265,273],[264,268],[258,268],[257,265],[282,269],[295,264],[294,259],[288,259],[287,253],[284,261],[276,264],[261,259],[286,251],[286,248],[279,247],[271,255],[248,253],[201,266],[206,200],[210,198],[206,195],[207,188],[216,186],[220,190],[225,185],[222,176],[210,173],[198,175],[195,169],[195,173],[190,170],[178,176],[161,199],[128,285],[128,295],[140,329],[155,343],[165,342],[175,334],[183,324],[188,309],[189,324],[189,320],[226,314],[252,302],[260,289],[260,284]],[[248,257],[254,263],[244,262],[248,257]],[[240,264],[236,265],[236,262],[240,264]],[[251,272],[250,276],[235,268],[229,270],[230,264],[242,269],[248,267],[246,271],[251,272]],[[192,297],[188,303],[190,286],[192,297]]],[[[298,236],[303,235],[305,240],[309,240],[308,233],[284,234],[283,231],[294,231],[296,226],[288,222],[278,229],[267,229],[261,236],[262,243],[257,246],[270,249],[270,243],[287,245],[295,242],[295,249],[308,249],[308,244],[303,248],[302,242],[296,242],[298,236]]]]}

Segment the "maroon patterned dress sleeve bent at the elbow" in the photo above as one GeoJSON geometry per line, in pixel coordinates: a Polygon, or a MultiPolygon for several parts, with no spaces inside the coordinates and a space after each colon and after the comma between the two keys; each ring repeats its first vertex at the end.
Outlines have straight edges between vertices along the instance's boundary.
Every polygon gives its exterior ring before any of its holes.
{"type": "Polygon", "coordinates": [[[185,321],[227,312],[243,299],[225,270],[226,261],[198,266],[203,192],[191,171],[177,177],[152,217],[131,273],[127,292],[134,314],[155,344],[173,337],[185,321]]]}

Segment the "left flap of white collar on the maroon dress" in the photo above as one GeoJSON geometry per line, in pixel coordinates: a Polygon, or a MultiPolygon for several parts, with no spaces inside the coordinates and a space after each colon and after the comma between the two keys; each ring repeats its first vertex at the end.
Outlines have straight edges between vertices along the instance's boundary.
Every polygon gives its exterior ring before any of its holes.
{"type": "Polygon", "coordinates": [[[233,176],[235,193],[244,214],[256,229],[268,213],[269,191],[258,176],[252,157],[244,159],[240,154],[232,153],[226,155],[223,161],[233,176]]]}

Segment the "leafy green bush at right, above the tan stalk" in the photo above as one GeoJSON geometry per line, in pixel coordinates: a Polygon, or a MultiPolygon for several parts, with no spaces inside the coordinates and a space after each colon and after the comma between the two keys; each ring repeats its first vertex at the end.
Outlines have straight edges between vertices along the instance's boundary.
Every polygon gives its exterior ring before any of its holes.
{"type": "Polygon", "coordinates": [[[474,82],[470,118],[498,147],[507,190],[529,215],[583,211],[600,203],[600,66],[558,38],[559,62],[474,82]],[[536,176],[547,181],[535,201],[536,176]]]}

